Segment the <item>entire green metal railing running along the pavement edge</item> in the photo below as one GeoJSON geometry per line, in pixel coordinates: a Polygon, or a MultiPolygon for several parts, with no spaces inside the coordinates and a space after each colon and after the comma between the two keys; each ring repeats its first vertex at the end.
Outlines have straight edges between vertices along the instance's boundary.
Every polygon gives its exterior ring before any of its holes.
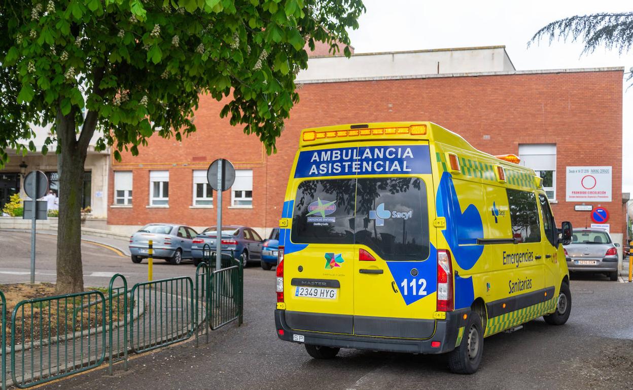
{"type": "Polygon", "coordinates": [[[223,268],[215,270],[215,253],[208,257],[213,262],[198,265],[195,288],[191,277],[182,276],[137,283],[128,290],[125,276],[115,274],[107,298],[94,290],[23,300],[11,314],[10,343],[0,291],[1,390],[7,384],[7,353],[13,384],[27,388],[92,369],[106,359],[113,374],[115,362],[122,360],[127,369],[130,352],[154,350],[194,334],[197,346],[199,335],[209,341],[210,329],[235,319],[242,324],[242,265],[223,253],[223,268]]]}

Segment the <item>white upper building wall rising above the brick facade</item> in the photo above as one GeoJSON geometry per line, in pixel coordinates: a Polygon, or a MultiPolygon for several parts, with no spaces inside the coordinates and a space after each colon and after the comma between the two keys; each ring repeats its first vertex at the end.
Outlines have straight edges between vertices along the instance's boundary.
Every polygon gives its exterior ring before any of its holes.
{"type": "Polygon", "coordinates": [[[364,77],[513,71],[504,46],[313,57],[297,82],[364,77]]]}

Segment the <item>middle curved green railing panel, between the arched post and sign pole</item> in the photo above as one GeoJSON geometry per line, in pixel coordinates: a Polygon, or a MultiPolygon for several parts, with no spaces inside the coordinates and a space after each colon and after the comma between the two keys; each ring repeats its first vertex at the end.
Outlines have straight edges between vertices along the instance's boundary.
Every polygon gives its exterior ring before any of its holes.
{"type": "Polygon", "coordinates": [[[194,331],[196,304],[189,276],[135,284],[130,294],[132,351],[141,353],[188,339],[194,331]],[[145,304],[145,313],[137,320],[135,300],[145,304]]]}

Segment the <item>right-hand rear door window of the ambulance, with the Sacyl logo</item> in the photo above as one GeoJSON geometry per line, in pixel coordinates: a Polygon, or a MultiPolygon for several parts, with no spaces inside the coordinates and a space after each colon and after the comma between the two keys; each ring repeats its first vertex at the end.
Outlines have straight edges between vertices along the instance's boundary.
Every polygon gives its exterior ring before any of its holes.
{"type": "Polygon", "coordinates": [[[418,178],[363,178],[356,186],[356,243],[384,260],[429,257],[427,188],[418,178]]]}

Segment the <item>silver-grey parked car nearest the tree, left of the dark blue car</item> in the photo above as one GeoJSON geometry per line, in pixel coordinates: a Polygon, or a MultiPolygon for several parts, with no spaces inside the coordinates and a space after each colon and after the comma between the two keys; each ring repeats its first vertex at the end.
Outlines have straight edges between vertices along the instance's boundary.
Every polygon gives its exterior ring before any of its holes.
{"type": "Polygon", "coordinates": [[[132,262],[147,259],[148,243],[152,240],[154,259],[165,259],[180,264],[182,259],[191,259],[191,241],[197,236],[194,229],[179,224],[148,224],[130,237],[132,262]]]}

